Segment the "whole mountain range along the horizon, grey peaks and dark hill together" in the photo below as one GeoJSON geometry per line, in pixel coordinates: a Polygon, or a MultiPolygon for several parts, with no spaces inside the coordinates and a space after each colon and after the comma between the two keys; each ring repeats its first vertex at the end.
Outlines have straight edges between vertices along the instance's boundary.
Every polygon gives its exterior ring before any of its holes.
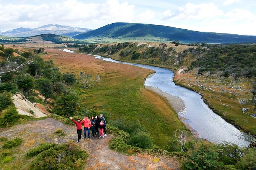
{"type": "Polygon", "coordinates": [[[174,40],[181,43],[256,43],[256,36],[253,35],[199,32],[168,26],[124,22],[108,24],[95,30],[45,25],[34,29],[21,27],[0,33],[1,42],[13,42],[13,40],[23,42],[36,35],[40,35],[43,40],[52,40],[55,43],[170,42],[174,40]],[[13,39],[13,37],[19,38],[13,39]]]}

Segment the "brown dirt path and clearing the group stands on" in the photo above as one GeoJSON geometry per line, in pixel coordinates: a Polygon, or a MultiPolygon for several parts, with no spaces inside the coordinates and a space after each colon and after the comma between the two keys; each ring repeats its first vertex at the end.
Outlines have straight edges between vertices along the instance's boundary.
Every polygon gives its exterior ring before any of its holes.
{"type": "MultiPolygon", "coordinates": [[[[0,136],[9,140],[20,137],[24,140],[24,153],[29,149],[38,146],[42,142],[68,143],[77,141],[75,125],[68,126],[58,120],[47,118],[33,121],[24,125],[16,125],[11,128],[0,129],[0,136]],[[61,128],[65,136],[58,136],[54,132],[61,128]]],[[[109,134],[104,139],[94,138],[82,140],[80,147],[86,150],[90,157],[84,169],[86,170],[161,170],[178,169],[178,162],[172,158],[153,157],[146,154],[137,156],[126,156],[108,148],[108,141],[114,136],[109,134]]]]}

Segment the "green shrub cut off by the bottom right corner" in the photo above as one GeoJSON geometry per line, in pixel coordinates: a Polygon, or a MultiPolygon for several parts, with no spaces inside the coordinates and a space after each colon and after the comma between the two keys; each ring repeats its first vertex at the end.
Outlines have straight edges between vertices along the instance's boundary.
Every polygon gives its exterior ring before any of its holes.
{"type": "Polygon", "coordinates": [[[256,170],[256,148],[250,148],[237,163],[238,170],[256,170]]]}

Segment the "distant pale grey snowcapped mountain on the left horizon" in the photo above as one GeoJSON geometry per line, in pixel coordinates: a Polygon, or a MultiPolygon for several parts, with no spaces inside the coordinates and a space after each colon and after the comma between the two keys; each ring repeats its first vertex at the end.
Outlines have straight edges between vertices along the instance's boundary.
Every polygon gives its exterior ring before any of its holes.
{"type": "Polygon", "coordinates": [[[39,34],[77,35],[88,32],[89,30],[91,29],[50,24],[33,29],[23,27],[16,28],[6,32],[0,32],[0,35],[5,35],[8,37],[29,37],[39,34]]]}

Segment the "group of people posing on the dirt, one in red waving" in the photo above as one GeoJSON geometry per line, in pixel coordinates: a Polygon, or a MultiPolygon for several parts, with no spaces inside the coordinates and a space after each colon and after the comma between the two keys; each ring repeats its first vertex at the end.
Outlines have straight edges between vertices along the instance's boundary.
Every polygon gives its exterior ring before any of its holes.
{"type": "Polygon", "coordinates": [[[80,144],[80,139],[81,139],[81,135],[82,135],[82,124],[84,125],[84,134],[85,137],[84,139],[86,139],[86,131],[88,132],[88,138],[91,139],[90,137],[90,129],[92,132],[92,138],[95,138],[96,136],[98,136],[98,138],[102,138],[104,139],[104,136],[107,136],[107,132],[106,132],[106,120],[103,117],[103,114],[100,114],[99,117],[96,115],[95,117],[92,116],[91,119],[88,119],[88,116],[85,116],[85,119],[83,119],[81,121],[81,119],[79,118],[77,121],[75,121],[73,119],[73,117],[70,117],[70,119],[72,119],[72,121],[75,123],[75,125],[77,126],[77,143],[80,144]],[[105,133],[105,135],[104,135],[105,133]]]}

